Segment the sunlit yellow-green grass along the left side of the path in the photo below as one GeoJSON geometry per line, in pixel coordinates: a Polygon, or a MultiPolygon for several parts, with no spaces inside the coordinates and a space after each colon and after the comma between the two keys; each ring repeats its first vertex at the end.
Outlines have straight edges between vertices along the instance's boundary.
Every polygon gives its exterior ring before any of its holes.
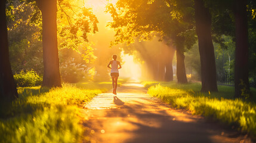
{"type": "Polygon", "coordinates": [[[0,110],[0,142],[80,142],[85,130],[81,104],[100,94],[98,89],[18,88],[19,98],[0,110]]]}

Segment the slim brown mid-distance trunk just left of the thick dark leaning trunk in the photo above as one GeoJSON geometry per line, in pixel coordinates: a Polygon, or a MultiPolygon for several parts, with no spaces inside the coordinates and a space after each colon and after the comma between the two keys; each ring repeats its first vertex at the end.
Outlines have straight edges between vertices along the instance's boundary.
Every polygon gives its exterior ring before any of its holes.
{"type": "Polygon", "coordinates": [[[187,75],[185,68],[185,55],[180,51],[180,48],[176,49],[176,57],[177,57],[177,82],[178,83],[187,83],[187,75]]]}

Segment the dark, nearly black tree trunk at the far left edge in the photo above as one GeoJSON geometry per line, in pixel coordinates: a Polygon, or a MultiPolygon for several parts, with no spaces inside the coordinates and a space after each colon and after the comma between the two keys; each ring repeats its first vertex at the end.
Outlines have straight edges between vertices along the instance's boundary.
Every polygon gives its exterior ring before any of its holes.
{"type": "Polygon", "coordinates": [[[9,60],[5,4],[6,1],[0,1],[0,98],[14,100],[18,94],[9,60]]]}

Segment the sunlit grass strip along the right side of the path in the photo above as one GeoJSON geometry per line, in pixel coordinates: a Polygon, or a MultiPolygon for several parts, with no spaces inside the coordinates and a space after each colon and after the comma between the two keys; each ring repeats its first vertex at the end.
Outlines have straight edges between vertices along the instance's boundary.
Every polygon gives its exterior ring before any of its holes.
{"type": "MultiPolygon", "coordinates": [[[[180,85],[174,82],[143,82],[148,93],[175,108],[184,108],[192,114],[200,114],[234,126],[256,136],[255,102],[233,99],[234,87],[218,86],[220,92],[201,93],[199,83],[180,85]],[[150,86],[153,85],[153,86],[150,86]]],[[[255,89],[252,88],[255,94],[255,89]]]]}

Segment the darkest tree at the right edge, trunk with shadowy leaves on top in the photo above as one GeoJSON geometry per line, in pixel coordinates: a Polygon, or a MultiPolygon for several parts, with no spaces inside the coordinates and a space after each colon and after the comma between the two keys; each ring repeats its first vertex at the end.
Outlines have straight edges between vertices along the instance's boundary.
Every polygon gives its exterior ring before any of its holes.
{"type": "MultiPolygon", "coordinates": [[[[249,29],[251,32],[250,38],[255,39],[254,32],[252,30],[254,29],[253,27],[255,23],[255,1],[226,0],[206,2],[208,3],[208,7],[214,11],[212,15],[215,18],[217,17],[217,21],[220,21],[220,23],[214,24],[214,32],[217,33],[217,35],[220,37],[224,34],[232,36],[233,40],[235,39],[235,97],[249,97],[251,92],[249,91],[248,80],[248,57],[251,57],[249,55],[252,55],[252,53],[248,53],[248,17],[251,18],[249,22],[250,26],[252,26],[251,29],[249,29]],[[217,15],[215,15],[216,12],[217,15]]],[[[251,46],[253,46],[253,43],[254,42],[251,41],[251,46]]]]}

